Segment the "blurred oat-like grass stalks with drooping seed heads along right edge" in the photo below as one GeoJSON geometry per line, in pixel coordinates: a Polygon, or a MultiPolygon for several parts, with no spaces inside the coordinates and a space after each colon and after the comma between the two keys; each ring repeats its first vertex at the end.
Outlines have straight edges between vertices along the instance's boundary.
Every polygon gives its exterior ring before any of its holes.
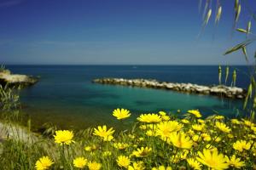
{"type": "MultiPolygon", "coordinates": [[[[249,75],[248,78],[250,79],[250,84],[248,85],[247,88],[247,97],[244,101],[244,110],[250,113],[250,119],[255,120],[255,112],[256,112],[256,82],[255,82],[255,77],[256,77],[256,49],[254,50],[254,53],[252,56],[249,56],[247,52],[247,48],[249,45],[252,45],[255,43],[256,36],[253,34],[252,31],[252,24],[255,23],[256,21],[256,14],[253,12],[255,8],[252,8],[251,2],[247,0],[234,0],[230,1],[230,5],[234,5],[234,20],[233,20],[233,30],[241,33],[244,35],[245,40],[241,40],[240,43],[234,45],[234,47],[231,47],[227,49],[224,52],[224,55],[227,54],[232,54],[237,51],[241,51],[241,54],[243,55],[244,59],[247,62],[247,67],[249,70],[249,75]],[[247,14],[249,17],[249,20],[247,20],[247,25],[246,26],[238,26],[239,25],[239,20],[241,14],[247,14]]],[[[199,6],[203,10],[203,24],[202,27],[203,29],[207,26],[209,20],[214,20],[214,23],[216,26],[218,26],[219,20],[222,18],[222,13],[223,13],[223,8],[222,8],[222,3],[220,0],[217,1],[212,1],[212,0],[200,0],[199,1],[199,6]],[[215,14],[215,16],[213,16],[215,14]]],[[[221,67],[219,66],[218,68],[218,80],[219,83],[221,83],[221,67]]],[[[226,67],[226,72],[225,72],[225,83],[227,82],[227,78],[229,75],[229,67],[226,67]]],[[[232,86],[236,86],[236,70],[233,71],[232,74],[232,86]]]]}

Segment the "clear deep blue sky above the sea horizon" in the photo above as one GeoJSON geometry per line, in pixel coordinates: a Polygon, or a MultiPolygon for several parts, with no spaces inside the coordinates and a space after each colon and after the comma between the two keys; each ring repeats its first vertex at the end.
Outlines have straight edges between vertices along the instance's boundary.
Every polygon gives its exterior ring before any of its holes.
{"type": "MultiPolygon", "coordinates": [[[[214,26],[212,18],[200,38],[202,14],[198,2],[0,0],[0,63],[246,64],[241,52],[223,56],[225,49],[245,39],[232,33],[233,1],[220,1],[223,17],[219,25],[214,26]]],[[[256,7],[255,1],[247,3],[256,7]]],[[[245,27],[250,20],[249,14],[243,12],[245,8],[242,6],[239,27],[245,27]]],[[[249,54],[253,55],[254,50],[255,44],[248,49],[249,54]]]]}

